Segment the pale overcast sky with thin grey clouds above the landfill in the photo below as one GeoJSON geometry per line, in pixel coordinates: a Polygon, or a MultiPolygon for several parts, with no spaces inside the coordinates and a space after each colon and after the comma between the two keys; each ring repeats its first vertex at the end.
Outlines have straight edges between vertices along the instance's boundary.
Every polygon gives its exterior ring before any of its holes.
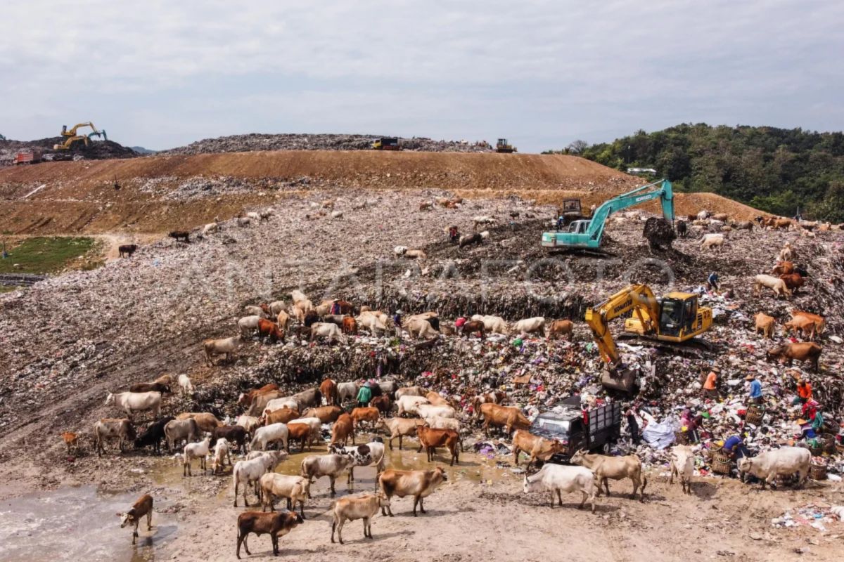
{"type": "Polygon", "coordinates": [[[162,149],[247,132],[522,152],[680,122],[844,129],[844,3],[28,0],[0,16],[0,134],[93,120],[162,149]],[[594,4],[594,5],[592,5],[594,4]]]}

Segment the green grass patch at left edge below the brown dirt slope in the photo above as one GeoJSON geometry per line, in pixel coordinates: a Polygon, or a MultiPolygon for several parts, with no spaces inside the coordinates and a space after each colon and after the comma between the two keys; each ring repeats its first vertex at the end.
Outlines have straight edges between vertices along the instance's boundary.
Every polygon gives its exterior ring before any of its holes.
{"type": "Polygon", "coordinates": [[[8,258],[0,260],[0,273],[56,273],[87,254],[94,244],[94,238],[85,237],[26,238],[8,250],[8,258]]]}

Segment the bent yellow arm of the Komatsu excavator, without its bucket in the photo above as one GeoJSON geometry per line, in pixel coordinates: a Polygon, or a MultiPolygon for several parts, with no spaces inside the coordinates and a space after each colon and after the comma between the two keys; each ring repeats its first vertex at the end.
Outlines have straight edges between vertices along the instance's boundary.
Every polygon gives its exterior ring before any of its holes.
{"type": "Polygon", "coordinates": [[[657,299],[647,285],[634,283],[626,286],[593,308],[587,308],[586,323],[598,345],[603,361],[613,366],[619,364],[619,352],[609,331],[609,323],[623,314],[634,311],[645,332],[654,331],[653,323],[659,321],[657,299]]]}

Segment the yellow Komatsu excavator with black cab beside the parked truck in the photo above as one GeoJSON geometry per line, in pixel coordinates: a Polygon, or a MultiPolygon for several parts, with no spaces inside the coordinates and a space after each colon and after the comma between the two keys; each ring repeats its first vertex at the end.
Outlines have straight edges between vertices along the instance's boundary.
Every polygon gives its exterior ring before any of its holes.
{"type": "MultiPolygon", "coordinates": [[[[690,342],[712,326],[712,309],[699,306],[695,293],[669,292],[657,299],[650,287],[641,283],[626,286],[607,300],[587,308],[586,323],[592,329],[603,361],[609,364],[609,372],[604,373],[601,383],[625,392],[633,389],[635,373],[621,365],[609,322],[631,311],[630,318],[625,318],[625,336],[657,340],[663,342],[661,346],[690,342]]],[[[695,340],[695,343],[706,345],[701,340],[695,340]]]]}

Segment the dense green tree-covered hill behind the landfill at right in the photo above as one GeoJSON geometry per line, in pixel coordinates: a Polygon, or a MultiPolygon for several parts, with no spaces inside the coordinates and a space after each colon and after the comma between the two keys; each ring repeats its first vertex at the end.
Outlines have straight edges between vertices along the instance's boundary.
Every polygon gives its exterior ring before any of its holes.
{"type": "Polygon", "coordinates": [[[844,222],[844,133],[679,125],[613,142],[572,142],[611,168],[652,168],[679,191],[711,191],[776,215],[844,222]]]}

